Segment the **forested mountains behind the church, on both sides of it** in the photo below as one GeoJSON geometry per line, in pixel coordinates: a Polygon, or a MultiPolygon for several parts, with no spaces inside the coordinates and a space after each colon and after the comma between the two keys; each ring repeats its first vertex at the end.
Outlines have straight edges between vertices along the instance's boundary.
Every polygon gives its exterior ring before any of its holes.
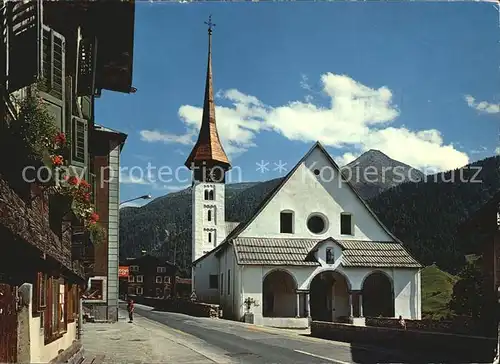
{"type": "MultiPolygon", "coordinates": [[[[361,196],[417,259],[426,265],[436,262],[441,269],[454,273],[473,245],[456,238],[456,226],[500,189],[499,165],[500,157],[492,157],[461,170],[426,176],[380,151],[371,150],[347,165],[350,171],[345,172],[351,173],[350,180],[361,196]],[[363,172],[372,165],[375,169],[363,172]],[[383,176],[373,172],[384,168],[383,176]],[[456,179],[446,182],[452,175],[459,176],[460,171],[470,181],[475,168],[481,171],[474,181],[482,179],[483,183],[463,183],[456,179]],[[406,182],[398,184],[401,180],[406,182]]],[[[280,181],[281,178],[228,184],[226,220],[246,220],[280,181]]],[[[142,207],[120,210],[120,256],[137,256],[143,249],[165,255],[175,260],[186,274],[189,272],[191,188],[156,198],[142,207]]]]}

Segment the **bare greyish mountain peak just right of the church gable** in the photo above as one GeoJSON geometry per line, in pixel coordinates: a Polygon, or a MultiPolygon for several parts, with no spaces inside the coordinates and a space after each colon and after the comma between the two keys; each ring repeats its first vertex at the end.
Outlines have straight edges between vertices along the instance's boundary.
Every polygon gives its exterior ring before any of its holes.
{"type": "Polygon", "coordinates": [[[364,199],[403,182],[418,182],[425,174],[407,164],[389,158],[380,150],[370,149],[342,168],[364,199]]]}

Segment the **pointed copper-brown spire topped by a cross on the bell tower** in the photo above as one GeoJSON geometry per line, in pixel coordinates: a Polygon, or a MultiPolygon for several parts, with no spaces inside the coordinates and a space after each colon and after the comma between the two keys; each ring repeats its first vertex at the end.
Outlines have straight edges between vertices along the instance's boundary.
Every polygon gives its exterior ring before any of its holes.
{"type": "MultiPolygon", "coordinates": [[[[208,22],[205,22],[205,24],[208,25],[208,64],[203,116],[198,141],[187,158],[185,165],[189,169],[198,166],[206,166],[209,169],[219,167],[222,171],[227,171],[231,168],[231,164],[220,142],[215,121],[215,102],[212,81],[212,27],[214,27],[215,24],[212,23],[211,15],[208,18],[208,22]]],[[[205,173],[203,173],[203,175],[205,175],[205,173]]],[[[195,176],[195,179],[198,178],[195,176]]]]}

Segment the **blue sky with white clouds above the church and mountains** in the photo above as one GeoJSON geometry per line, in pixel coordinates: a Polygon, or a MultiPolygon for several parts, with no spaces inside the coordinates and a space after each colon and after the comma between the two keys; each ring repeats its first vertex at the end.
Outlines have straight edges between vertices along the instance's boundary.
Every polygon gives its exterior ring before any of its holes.
{"type": "Polygon", "coordinates": [[[138,91],[105,92],[96,106],[98,123],[128,134],[122,200],[189,184],[178,168],[201,120],[209,14],[233,182],[283,175],[275,163],[292,168],[316,140],[340,164],[379,149],[424,171],[460,167],[500,145],[491,3],[138,2],[138,91]],[[260,161],[268,171],[256,170],[260,161]]]}

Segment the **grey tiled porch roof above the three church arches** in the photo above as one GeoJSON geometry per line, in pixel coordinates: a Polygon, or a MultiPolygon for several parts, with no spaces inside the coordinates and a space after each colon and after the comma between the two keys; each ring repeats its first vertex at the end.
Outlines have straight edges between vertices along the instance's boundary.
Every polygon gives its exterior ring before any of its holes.
{"type": "MultiPolygon", "coordinates": [[[[399,243],[335,240],[342,248],[343,267],[420,268],[421,265],[399,243]]],[[[310,253],[325,239],[236,238],[233,246],[238,264],[316,266],[310,253]]]]}

